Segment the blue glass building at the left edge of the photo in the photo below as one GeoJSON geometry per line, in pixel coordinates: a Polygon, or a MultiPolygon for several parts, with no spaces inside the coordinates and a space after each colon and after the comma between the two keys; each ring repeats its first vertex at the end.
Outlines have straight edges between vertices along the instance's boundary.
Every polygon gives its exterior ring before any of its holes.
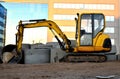
{"type": "Polygon", "coordinates": [[[5,45],[7,10],[0,4],[0,47],[5,45]]]}

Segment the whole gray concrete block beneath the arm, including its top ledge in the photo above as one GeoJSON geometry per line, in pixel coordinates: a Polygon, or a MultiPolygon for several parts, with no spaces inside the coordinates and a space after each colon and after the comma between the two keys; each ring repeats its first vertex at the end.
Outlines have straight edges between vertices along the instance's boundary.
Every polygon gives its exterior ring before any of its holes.
{"type": "Polygon", "coordinates": [[[50,63],[50,51],[51,45],[44,44],[33,44],[33,45],[23,45],[24,50],[24,63],[26,64],[40,64],[40,63],[50,63]]]}

